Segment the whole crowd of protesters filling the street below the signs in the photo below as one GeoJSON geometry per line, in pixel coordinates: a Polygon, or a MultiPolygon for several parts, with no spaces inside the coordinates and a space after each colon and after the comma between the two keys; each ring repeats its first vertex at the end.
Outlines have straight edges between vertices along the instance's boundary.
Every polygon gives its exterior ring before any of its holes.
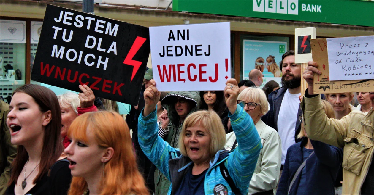
{"type": "Polygon", "coordinates": [[[294,55],[223,91],[159,92],[148,69],[126,120],[87,85],[23,85],[0,102],[0,195],[373,194],[374,92],[314,94],[294,55]]]}

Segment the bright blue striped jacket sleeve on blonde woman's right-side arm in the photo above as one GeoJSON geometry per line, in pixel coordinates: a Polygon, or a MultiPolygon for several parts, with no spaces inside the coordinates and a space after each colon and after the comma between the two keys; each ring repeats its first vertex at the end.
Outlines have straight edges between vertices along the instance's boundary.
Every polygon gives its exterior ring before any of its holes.
{"type": "Polygon", "coordinates": [[[249,182],[256,167],[258,154],[262,148],[261,139],[252,118],[244,109],[237,106],[229,117],[236,135],[238,146],[225,162],[229,174],[241,192],[248,192],[249,182]]]}

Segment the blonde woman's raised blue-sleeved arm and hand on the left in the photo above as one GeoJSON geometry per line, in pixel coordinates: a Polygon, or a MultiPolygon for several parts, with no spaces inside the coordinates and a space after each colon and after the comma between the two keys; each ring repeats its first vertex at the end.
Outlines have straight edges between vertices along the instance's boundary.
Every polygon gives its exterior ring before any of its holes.
{"type": "Polygon", "coordinates": [[[169,179],[169,152],[177,151],[164,141],[157,132],[156,105],[160,99],[160,92],[156,82],[150,80],[151,85],[144,91],[145,107],[138,119],[138,141],[140,148],[150,161],[169,179]]]}

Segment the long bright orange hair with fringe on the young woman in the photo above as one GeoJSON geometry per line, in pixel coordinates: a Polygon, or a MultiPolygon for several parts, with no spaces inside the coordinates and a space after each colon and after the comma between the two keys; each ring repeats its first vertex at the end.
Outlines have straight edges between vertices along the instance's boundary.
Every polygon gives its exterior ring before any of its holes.
{"type": "MultiPolygon", "coordinates": [[[[109,111],[85,113],[71,123],[67,135],[87,142],[88,126],[99,147],[114,149],[113,157],[104,167],[105,175],[99,186],[100,195],[148,195],[148,189],[137,167],[130,130],[123,117],[109,111]]],[[[73,177],[68,195],[83,194],[86,189],[87,183],[83,177],[73,177]]]]}

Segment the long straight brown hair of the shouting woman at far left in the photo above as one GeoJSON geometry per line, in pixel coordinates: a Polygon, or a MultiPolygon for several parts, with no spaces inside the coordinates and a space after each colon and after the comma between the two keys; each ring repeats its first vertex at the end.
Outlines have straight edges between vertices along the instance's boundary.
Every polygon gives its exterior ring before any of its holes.
{"type": "MultiPolygon", "coordinates": [[[[56,94],[52,90],[40,85],[23,85],[17,88],[13,92],[13,95],[17,92],[22,92],[30,95],[39,105],[39,109],[41,112],[44,113],[50,110],[52,116],[52,119],[45,127],[39,173],[33,180],[33,183],[35,184],[38,180],[42,179],[43,175],[48,172],[50,167],[52,167],[52,165],[58,160],[58,158],[64,151],[64,146],[62,145],[62,138],[60,134],[60,105],[58,103],[56,94]]],[[[18,176],[19,174],[21,174],[27,159],[28,153],[26,149],[22,145],[19,145],[17,147],[17,156],[12,162],[12,172],[10,173],[8,186],[12,184],[12,182],[17,183],[18,176]]]]}

